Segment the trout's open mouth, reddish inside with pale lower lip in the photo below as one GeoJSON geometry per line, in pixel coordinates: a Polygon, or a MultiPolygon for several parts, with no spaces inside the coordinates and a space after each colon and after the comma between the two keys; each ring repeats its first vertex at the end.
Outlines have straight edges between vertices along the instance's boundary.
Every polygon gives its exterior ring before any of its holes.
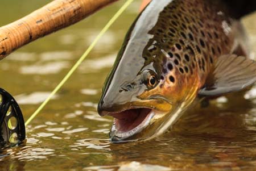
{"type": "Polygon", "coordinates": [[[114,117],[110,136],[113,141],[119,141],[137,134],[148,126],[150,119],[154,116],[154,111],[147,108],[138,108],[109,115],[114,117]]]}

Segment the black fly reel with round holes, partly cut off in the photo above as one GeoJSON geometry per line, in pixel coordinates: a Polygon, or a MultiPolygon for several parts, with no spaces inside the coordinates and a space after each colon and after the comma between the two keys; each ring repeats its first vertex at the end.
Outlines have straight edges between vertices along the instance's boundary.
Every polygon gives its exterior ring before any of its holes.
{"type": "Polygon", "coordinates": [[[26,131],[18,103],[0,88],[0,148],[22,143],[26,131]]]}

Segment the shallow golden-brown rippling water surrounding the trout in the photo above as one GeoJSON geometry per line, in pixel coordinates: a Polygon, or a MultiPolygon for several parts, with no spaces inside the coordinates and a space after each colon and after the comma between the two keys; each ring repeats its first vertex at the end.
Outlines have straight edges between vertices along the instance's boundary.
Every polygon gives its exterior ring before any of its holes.
{"type": "MultiPolygon", "coordinates": [[[[18,19],[47,2],[2,0],[0,24],[18,19]]],[[[1,87],[15,95],[25,120],[123,2],[31,43],[0,62],[1,87]]],[[[31,122],[26,143],[2,150],[0,170],[256,169],[256,86],[246,93],[218,98],[207,108],[195,107],[170,132],[154,140],[109,143],[112,119],[98,116],[97,101],[138,8],[136,1],[31,122]]],[[[252,49],[256,49],[255,19],[256,14],[243,20],[252,49]]]]}

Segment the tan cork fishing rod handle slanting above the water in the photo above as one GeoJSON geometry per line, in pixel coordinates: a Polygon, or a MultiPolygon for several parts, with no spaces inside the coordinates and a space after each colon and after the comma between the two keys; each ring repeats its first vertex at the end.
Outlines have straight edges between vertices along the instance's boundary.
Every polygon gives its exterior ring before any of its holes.
{"type": "Polygon", "coordinates": [[[55,0],[0,27],[0,60],[19,47],[68,27],[117,0],[55,0]]]}

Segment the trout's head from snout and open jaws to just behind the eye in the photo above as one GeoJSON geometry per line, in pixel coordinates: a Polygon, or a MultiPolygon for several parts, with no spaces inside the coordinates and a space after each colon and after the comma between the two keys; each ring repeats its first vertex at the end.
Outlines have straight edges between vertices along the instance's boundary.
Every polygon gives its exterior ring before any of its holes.
{"type": "Polygon", "coordinates": [[[114,117],[110,131],[114,142],[144,140],[158,135],[159,129],[166,131],[167,120],[188,89],[183,87],[185,77],[165,60],[163,49],[154,45],[156,56],[149,55],[146,51],[152,45],[143,42],[129,41],[121,49],[102,90],[98,113],[114,117]]]}

